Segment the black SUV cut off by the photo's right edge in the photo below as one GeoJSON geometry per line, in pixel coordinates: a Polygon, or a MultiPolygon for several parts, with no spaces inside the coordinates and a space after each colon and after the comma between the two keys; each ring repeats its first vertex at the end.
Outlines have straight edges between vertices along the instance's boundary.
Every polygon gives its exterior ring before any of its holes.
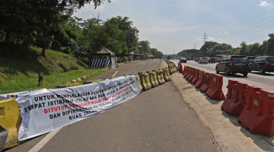
{"type": "Polygon", "coordinates": [[[259,71],[260,74],[265,72],[274,72],[274,56],[259,56],[250,63],[250,72],[259,71]]]}

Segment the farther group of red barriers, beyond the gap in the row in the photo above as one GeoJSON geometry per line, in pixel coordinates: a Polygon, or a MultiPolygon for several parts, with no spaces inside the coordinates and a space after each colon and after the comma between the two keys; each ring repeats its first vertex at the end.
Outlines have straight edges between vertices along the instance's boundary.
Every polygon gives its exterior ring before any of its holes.
{"type": "Polygon", "coordinates": [[[186,79],[195,84],[197,88],[200,88],[201,92],[205,93],[210,99],[225,99],[222,91],[223,76],[210,74],[189,66],[184,67],[183,74],[186,79]]]}

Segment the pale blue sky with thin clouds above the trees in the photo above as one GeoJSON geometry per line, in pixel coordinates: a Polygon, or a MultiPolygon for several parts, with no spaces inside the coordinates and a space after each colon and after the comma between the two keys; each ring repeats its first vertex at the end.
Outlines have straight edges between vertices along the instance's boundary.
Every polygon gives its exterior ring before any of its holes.
{"type": "Polygon", "coordinates": [[[164,54],[199,49],[207,41],[239,47],[268,40],[274,33],[273,0],[112,0],[94,9],[93,4],[74,13],[84,20],[127,16],[140,31],[139,41],[164,54]],[[273,27],[271,27],[273,26],[273,27]],[[257,31],[257,32],[256,32],[257,31]]]}

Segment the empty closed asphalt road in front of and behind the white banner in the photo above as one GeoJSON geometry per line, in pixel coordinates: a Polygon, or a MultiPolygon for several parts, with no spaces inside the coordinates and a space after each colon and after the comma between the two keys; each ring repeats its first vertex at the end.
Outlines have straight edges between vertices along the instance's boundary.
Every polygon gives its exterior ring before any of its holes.
{"type": "MultiPolygon", "coordinates": [[[[92,79],[165,67],[162,59],[131,62],[92,79]],[[118,72],[117,72],[118,71],[118,72]]],[[[221,151],[208,127],[172,81],[104,113],[4,151],[221,151]]]]}

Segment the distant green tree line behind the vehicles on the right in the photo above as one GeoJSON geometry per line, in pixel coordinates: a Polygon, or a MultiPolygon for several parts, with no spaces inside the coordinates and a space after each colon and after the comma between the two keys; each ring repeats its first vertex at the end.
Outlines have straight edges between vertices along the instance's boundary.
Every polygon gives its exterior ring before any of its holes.
{"type": "MultiPolygon", "coordinates": [[[[204,54],[191,54],[185,53],[185,56],[210,56],[215,57],[215,55],[246,55],[246,56],[264,56],[264,55],[274,55],[274,33],[268,34],[269,39],[260,43],[246,44],[242,42],[239,47],[233,48],[231,45],[226,43],[217,43],[208,41],[205,42],[200,50],[204,54]]],[[[177,55],[183,56],[184,50],[179,52],[177,55]]]]}

